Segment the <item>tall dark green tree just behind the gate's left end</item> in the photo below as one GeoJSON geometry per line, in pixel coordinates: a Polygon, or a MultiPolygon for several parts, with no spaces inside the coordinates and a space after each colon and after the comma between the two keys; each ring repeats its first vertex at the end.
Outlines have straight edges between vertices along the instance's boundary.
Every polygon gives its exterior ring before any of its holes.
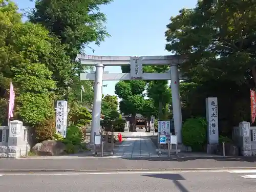
{"type": "MultiPolygon", "coordinates": [[[[66,74],[65,79],[58,80],[58,88],[63,90],[60,99],[80,100],[80,88],[83,85],[85,92],[83,102],[90,104],[93,98],[92,81],[81,82],[80,73],[88,67],[80,65],[76,60],[78,53],[91,42],[97,45],[108,37],[103,23],[106,17],[100,12],[99,6],[111,3],[111,0],[93,1],[60,1],[36,0],[35,8],[28,14],[32,23],[45,26],[52,36],[60,39],[65,47],[66,56],[69,56],[71,65],[59,65],[58,70],[66,74]]],[[[61,76],[62,77],[62,76],[61,76]]]]}

